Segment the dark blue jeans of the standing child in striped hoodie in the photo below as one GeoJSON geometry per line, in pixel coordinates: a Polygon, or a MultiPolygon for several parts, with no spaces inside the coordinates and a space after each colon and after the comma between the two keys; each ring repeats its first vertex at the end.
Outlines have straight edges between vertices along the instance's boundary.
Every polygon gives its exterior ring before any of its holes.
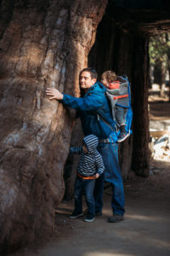
{"type": "Polygon", "coordinates": [[[75,212],[82,212],[82,192],[84,192],[88,214],[92,217],[95,216],[94,184],[95,179],[83,179],[77,176],[75,182],[75,212]]]}

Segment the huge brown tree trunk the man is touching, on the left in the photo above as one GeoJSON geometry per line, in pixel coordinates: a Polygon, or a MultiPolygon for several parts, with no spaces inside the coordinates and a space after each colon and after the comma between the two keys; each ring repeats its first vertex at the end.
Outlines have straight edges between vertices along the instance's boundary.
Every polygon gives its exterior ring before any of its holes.
{"type": "Polygon", "coordinates": [[[1,1],[0,244],[8,248],[52,230],[75,113],[45,89],[79,95],[106,3],[1,1]]]}

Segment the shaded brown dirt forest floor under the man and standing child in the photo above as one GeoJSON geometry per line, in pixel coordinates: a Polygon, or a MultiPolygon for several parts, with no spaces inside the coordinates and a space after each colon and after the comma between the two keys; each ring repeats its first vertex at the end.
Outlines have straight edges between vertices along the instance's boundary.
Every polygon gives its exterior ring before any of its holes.
{"type": "MultiPolygon", "coordinates": [[[[170,103],[150,99],[150,119],[170,119],[170,103]]],[[[170,161],[150,160],[149,177],[130,172],[124,182],[125,219],[111,224],[111,187],[105,186],[103,216],[93,223],[70,219],[74,201],[62,201],[55,209],[54,236],[25,247],[13,256],[169,256],[170,161]]],[[[86,205],[84,202],[84,209],[86,205]]]]}

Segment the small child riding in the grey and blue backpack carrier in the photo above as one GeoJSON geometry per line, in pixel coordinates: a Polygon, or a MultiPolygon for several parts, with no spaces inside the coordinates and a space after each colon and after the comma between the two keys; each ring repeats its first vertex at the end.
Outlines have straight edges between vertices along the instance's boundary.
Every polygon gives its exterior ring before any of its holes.
{"type": "Polygon", "coordinates": [[[117,76],[113,71],[105,71],[100,82],[105,85],[106,96],[111,102],[112,116],[120,129],[117,142],[122,143],[130,132],[126,131],[126,115],[129,108],[128,82],[124,76],[117,76]]]}

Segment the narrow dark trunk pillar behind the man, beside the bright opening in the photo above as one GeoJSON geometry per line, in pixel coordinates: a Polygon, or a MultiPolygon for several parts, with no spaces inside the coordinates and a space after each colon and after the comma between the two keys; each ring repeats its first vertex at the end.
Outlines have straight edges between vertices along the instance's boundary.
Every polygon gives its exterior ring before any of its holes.
{"type": "Polygon", "coordinates": [[[133,47],[133,170],[148,177],[150,172],[148,88],[148,40],[137,36],[133,47]]]}

